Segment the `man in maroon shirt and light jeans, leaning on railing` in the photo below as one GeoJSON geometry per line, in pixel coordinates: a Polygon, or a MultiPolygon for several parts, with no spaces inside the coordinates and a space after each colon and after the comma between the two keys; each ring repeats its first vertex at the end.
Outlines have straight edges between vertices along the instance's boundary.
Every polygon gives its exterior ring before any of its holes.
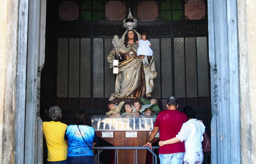
{"type": "MultiPolygon", "coordinates": [[[[164,110],[157,115],[154,128],[151,132],[149,140],[145,147],[150,147],[152,150],[152,141],[159,130],[160,141],[169,140],[176,137],[178,132],[186,121],[187,115],[177,110],[178,100],[176,97],[169,97],[166,106],[168,110],[164,110]]],[[[165,142],[164,142],[165,143],[165,142]]],[[[159,147],[159,159],[161,164],[182,164],[183,155],[185,152],[184,142],[176,144],[168,144],[159,147]]]]}

